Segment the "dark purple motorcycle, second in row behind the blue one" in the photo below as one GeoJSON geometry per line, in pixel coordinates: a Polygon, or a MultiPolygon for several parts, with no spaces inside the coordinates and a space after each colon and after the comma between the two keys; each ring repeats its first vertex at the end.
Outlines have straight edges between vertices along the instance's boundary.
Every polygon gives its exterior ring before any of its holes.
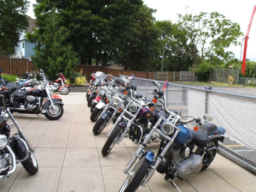
{"type": "MultiPolygon", "coordinates": [[[[158,121],[160,116],[169,115],[164,110],[159,113],[154,111],[154,108],[159,105],[159,95],[163,95],[163,90],[159,89],[160,84],[158,82],[153,81],[153,85],[156,87],[155,92],[152,93],[154,95],[153,101],[141,99],[141,94],[134,94],[134,98],[130,94],[131,99],[126,108],[107,134],[108,139],[101,150],[103,156],[108,155],[115,144],[119,144],[125,136],[129,137],[136,145],[140,144],[148,137],[152,125],[158,121]]],[[[132,93],[132,90],[130,92],[132,93]]],[[[123,101],[119,99],[119,102],[123,101]]],[[[156,137],[152,137],[149,142],[151,143],[155,139],[156,137]]]]}

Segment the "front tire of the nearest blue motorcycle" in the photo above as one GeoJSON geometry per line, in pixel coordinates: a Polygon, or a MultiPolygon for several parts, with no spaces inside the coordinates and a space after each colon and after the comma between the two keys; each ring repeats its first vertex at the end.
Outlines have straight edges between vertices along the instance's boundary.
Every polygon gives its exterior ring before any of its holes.
{"type": "Polygon", "coordinates": [[[144,180],[150,168],[151,162],[143,156],[134,166],[131,177],[127,177],[119,192],[135,192],[144,180]]]}

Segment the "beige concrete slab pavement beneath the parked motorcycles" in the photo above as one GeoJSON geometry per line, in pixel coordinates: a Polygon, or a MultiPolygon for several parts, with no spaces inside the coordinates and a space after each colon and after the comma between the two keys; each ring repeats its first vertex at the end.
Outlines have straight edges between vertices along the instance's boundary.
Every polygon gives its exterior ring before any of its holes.
{"type": "MultiPolygon", "coordinates": [[[[90,108],[85,93],[59,95],[64,115],[49,121],[43,115],[14,113],[19,126],[35,147],[39,170],[29,175],[21,164],[0,182],[0,192],[118,192],[126,175],[128,160],[137,147],[128,138],[115,145],[108,156],[101,149],[111,128],[93,134],[90,108]]],[[[14,134],[16,128],[12,128],[14,134]]],[[[149,147],[157,150],[158,144],[149,147]]],[[[256,175],[217,154],[205,171],[174,182],[182,192],[256,192],[256,175]]],[[[164,176],[156,172],[146,188],[138,192],[176,192],[164,176]]]]}

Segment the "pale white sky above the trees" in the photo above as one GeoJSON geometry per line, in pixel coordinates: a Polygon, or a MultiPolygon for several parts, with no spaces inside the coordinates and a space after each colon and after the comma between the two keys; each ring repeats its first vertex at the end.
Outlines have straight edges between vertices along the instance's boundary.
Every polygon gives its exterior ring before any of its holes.
{"type": "MultiPolygon", "coordinates": [[[[185,15],[186,13],[199,14],[201,11],[211,13],[217,11],[223,14],[226,19],[229,19],[232,23],[240,25],[243,36],[238,39],[242,42],[242,38],[245,37],[250,18],[252,16],[254,5],[256,0],[143,0],[144,4],[148,7],[157,9],[157,12],[153,14],[156,20],[171,20],[173,23],[178,21],[178,15],[185,15]],[[187,7],[187,8],[186,8],[187,7]],[[186,8],[186,9],[185,9],[186,8]]],[[[35,19],[32,4],[35,0],[30,0],[31,6],[27,13],[30,17],[35,19]]],[[[241,46],[229,47],[228,51],[232,51],[235,54],[235,58],[240,60],[241,46]]],[[[243,60],[244,47],[242,48],[243,60]]],[[[252,22],[252,26],[249,32],[249,40],[247,47],[247,59],[250,61],[256,61],[256,15],[252,22]]]]}

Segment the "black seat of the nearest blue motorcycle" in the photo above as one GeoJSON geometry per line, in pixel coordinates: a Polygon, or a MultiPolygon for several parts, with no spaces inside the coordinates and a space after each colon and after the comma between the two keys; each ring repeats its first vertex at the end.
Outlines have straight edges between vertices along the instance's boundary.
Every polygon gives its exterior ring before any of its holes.
{"type": "Polygon", "coordinates": [[[198,126],[199,129],[197,131],[192,130],[192,133],[194,135],[194,140],[206,147],[209,135],[211,134],[211,132],[217,130],[217,126],[211,123],[205,123],[203,124],[203,127],[206,132],[204,132],[204,130],[200,126],[198,126]]]}

